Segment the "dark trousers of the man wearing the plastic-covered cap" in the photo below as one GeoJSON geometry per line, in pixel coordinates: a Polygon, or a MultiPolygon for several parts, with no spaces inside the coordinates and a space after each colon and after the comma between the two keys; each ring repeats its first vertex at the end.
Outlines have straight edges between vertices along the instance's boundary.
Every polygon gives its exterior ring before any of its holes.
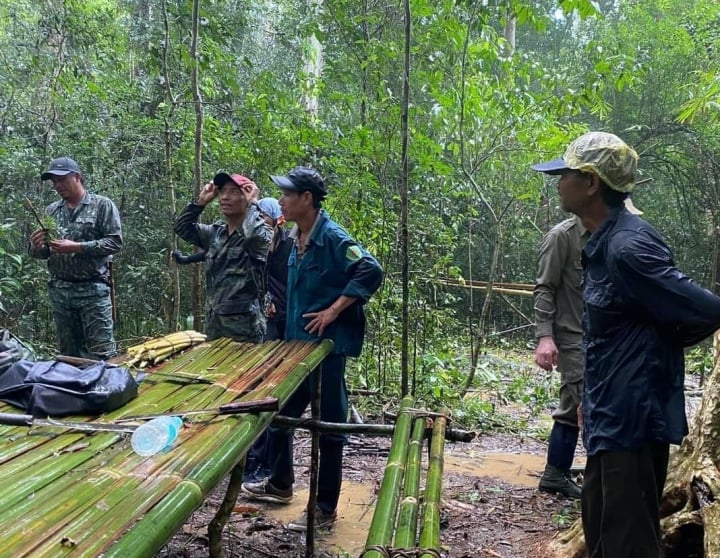
{"type": "Polygon", "coordinates": [[[582,522],[589,558],[660,558],[659,505],[669,445],[587,458],[582,522]]]}

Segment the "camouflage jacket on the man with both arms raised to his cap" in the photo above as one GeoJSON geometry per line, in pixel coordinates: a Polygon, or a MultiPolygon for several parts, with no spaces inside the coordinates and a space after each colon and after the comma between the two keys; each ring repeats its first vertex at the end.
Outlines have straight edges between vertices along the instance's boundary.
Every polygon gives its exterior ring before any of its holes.
{"type": "Polygon", "coordinates": [[[227,224],[198,223],[205,207],[190,203],[175,221],[175,234],[207,251],[205,285],[207,310],[220,314],[247,311],[264,294],[263,271],[272,228],[252,203],[241,227],[228,234],[227,224]]]}

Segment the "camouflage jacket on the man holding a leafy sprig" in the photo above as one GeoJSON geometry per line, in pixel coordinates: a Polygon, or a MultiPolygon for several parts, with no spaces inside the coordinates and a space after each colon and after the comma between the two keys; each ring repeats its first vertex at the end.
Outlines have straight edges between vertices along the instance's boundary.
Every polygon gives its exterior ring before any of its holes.
{"type": "Polygon", "coordinates": [[[108,282],[108,264],[122,248],[120,213],[115,204],[105,196],[86,192],[74,209],[58,200],[48,205],[45,213],[55,221],[55,237],[79,242],[82,252],[50,253],[45,246],[41,250],[31,249],[30,255],[48,260],[53,279],[108,282]]]}

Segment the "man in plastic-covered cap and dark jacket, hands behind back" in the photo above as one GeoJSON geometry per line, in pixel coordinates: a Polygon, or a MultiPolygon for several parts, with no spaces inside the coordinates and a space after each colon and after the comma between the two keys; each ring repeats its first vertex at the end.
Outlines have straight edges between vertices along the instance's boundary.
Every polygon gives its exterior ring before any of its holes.
{"type": "Polygon", "coordinates": [[[561,205],[591,237],[583,249],[582,521],[590,558],[658,558],[669,444],[687,434],[683,347],[720,327],[720,298],[683,275],[624,200],[637,154],[589,132],[534,170],[560,176],[561,205]]]}

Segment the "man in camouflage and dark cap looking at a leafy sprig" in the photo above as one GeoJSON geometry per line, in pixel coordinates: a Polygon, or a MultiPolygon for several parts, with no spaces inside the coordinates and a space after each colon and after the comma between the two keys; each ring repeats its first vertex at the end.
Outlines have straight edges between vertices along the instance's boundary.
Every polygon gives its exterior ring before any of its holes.
{"type": "Polygon", "coordinates": [[[80,167],[69,157],[53,160],[41,178],[52,181],[61,199],[45,208],[55,230],[33,231],[30,255],[48,261],[59,350],[107,360],[116,354],[110,262],[122,247],[120,214],[105,196],[85,191],[80,167]]]}

